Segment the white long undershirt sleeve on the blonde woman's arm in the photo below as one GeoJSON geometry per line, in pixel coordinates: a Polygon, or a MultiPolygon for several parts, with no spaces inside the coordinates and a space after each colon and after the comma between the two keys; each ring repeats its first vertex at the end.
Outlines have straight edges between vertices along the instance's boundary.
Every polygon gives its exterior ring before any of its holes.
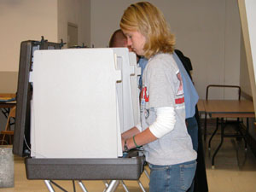
{"type": "Polygon", "coordinates": [[[149,126],[149,130],[155,137],[160,138],[173,130],[176,123],[175,112],[172,107],[154,108],[154,110],[156,111],[156,119],[149,126]]]}

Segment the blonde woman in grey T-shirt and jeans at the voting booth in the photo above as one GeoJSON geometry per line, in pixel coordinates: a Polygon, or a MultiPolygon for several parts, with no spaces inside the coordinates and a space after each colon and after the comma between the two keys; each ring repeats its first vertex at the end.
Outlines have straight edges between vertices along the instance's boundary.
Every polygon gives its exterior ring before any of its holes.
{"type": "Polygon", "coordinates": [[[159,9],[131,4],[120,20],[127,44],[148,59],[143,73],[141,124],[122,134],[124,150],[143,145],[150,192],[186,191],[196,152],[185,124],[183,82],[173,59],[175,38],[159,9]]]}

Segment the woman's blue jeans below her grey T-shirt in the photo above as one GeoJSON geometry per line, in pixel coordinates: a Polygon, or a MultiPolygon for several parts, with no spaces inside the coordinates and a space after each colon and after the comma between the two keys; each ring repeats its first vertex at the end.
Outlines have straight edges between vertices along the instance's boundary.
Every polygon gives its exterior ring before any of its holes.
{"type": "Polygon", "coordinates": [[[149,192],[187,191],[195,176],[196,160],[172,165],[150,168],[149,192]]]}

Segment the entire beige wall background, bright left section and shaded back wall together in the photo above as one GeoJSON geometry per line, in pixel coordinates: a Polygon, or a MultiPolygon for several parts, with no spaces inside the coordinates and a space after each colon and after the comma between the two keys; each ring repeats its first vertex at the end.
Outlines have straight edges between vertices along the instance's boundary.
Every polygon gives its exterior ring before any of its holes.
{"type": "MultiPolygon", "coordinates": [[[[0,82],[9,72],[17,74],[20,41],[67,42],[67,22],[79,26],[79,45],[106,47],[119,28],[124,9],[132,0],[2,0],[0,82]],[[72,9],[71,9],[72,8],[72,9]],[[11,32],[11,35],[9,35],[11,32]]],[[[236,0],[151,0],[166,16],[177,36],[177,49],[192,61],[195,87],[205,97],[207,84],[240,84],[241,26],[236,0]]],[[[243,84],[246,84],[247,80],[243,84]]],[[[2,83],[3,84],[3,83],[2,83]]],[[[6,92],[0,84],[0,92],[6,92]]],[[[15,90],[14,83],[10,84],[15,90]]],[[[245,90],[247,91],[247,90],[245,90]]],[[[214,91],[214,98],[230,97],[231,91],[214,91]]]]}

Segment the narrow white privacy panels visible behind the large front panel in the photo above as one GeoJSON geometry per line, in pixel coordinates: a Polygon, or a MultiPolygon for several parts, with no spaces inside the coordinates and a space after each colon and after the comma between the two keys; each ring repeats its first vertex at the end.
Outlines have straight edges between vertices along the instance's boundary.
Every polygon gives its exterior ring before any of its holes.
{"type": "Polygon", "coordinates": [[[137,125],[139,120],[139,102],[137,93],[137,61],[134,53],[127,48],[113,48],[117,55],[117,68],[122,73],[122,81],[117,82],[119,117],[121,132],[137,125]]]}

